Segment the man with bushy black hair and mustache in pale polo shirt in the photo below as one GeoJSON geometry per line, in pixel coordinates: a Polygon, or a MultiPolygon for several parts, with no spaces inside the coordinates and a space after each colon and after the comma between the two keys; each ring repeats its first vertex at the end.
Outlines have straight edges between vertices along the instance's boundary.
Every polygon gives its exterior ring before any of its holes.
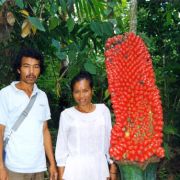
{"type": "Polygon", "coordinates": [[[23,49],[17,55],[15,70],[19,81],[0,91],[0,180],[43,180],[46,157],[50,180],[57,179],[51,136],[47,125],[50,109],[46,94],[35,84],[43,73],[43,56],[33,49],[23,49]],[[36,100],[17,131],[6,145],[3,162],[3,139],[10,134],[14,122],[37,93],[36,100]]]}

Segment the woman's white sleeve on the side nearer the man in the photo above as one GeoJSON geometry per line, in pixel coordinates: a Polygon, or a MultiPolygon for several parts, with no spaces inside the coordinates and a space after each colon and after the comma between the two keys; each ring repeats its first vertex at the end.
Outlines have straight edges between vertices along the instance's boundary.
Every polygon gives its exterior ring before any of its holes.
{"type": "Polygon", "coordinates": [[[65,166],[69,154],[67,147],[67,120],[66,116],[64,116],[64,112],[62,112],[55,149],[55,158],[58,167],[65,166]]]}

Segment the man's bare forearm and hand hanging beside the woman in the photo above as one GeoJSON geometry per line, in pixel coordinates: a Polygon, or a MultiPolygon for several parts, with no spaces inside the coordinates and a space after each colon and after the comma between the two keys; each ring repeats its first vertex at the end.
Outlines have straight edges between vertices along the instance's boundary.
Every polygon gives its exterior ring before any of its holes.
{"type": "Polygon", "coordinates": [[[55,163],[54,154],[53,154],[51,134],[49,132],[47,122],[44,123],[43,135],[44,135],[45,152],[46,152],[46,156],[50,163],[50,167],[49,167],[50,180],[56,180],[57,179],[57,169],[56,169],[56,163],[55,163]]]}

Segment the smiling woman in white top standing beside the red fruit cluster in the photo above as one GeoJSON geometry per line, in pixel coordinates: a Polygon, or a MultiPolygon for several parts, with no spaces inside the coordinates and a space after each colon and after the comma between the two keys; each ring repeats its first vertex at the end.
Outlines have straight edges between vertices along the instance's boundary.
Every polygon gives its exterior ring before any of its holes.
{"type": "Polygon", "coordinates": [[[60,116],[56,143],[59,180],[114,180],[116,167],[109,158],[111,116],[104,104],[93,104],[93,80],[80,72],[71,82],[76,106],[60,116]],[[110,174],[108,169],[110,164],[110,174]]]}

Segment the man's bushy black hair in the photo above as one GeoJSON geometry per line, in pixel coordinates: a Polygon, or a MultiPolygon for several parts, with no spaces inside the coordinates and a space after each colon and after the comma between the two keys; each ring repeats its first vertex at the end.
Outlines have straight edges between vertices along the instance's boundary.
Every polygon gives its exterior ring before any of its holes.
{"type": "Polygon", "coordinates": [[[43,55],[35,49],[23,48],[18,52],[16,59],[14,61],[14,64],[13,64],[13,71],[16,74],[17,78],[19,78],[19,74],[17,73],[17,70],[20,69],[20,67],[21,67],[23,57],[30,57],[30,58],[37,59],[40,64],[40,74],[43,74],[43,72],[44,72],[44,57],[43,57],[43,55]]]}

